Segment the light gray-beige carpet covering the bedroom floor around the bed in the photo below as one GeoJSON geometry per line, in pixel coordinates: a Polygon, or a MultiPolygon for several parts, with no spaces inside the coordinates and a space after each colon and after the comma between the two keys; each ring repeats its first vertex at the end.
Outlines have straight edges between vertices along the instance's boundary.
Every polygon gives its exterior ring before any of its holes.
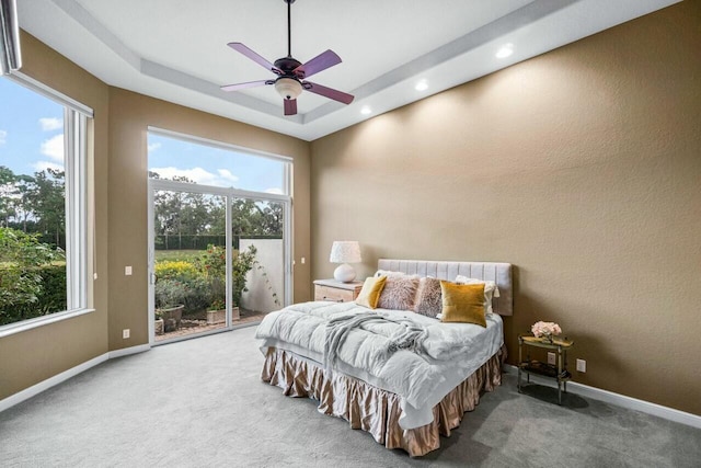
{"type": "Polygon", "coordinates": [[[254,328],[113,359],[0,413],[2,467],[700,467],[701,430],[552,389],[486,393],[411,459],[260,381],[254,328]]]}

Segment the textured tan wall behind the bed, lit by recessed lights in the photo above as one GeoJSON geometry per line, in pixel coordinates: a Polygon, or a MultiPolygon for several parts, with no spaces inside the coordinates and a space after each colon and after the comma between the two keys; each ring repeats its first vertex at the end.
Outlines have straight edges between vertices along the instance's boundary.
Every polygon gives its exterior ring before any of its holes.
{"type": "Polygon", "coordinates": [[[701,414],[701,2],[683,2],[312,144],[312,277],[333,240],[516,266],[575,380],[701,414]]]}

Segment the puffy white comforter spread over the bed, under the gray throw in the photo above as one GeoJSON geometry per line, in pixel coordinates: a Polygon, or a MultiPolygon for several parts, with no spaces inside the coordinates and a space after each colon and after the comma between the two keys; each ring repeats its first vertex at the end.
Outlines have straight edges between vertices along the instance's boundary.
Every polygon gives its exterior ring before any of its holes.
{"type": "MultiPolygon", "coordinates": [[[[376,309],[379,317],[348,330],[334,350],[333,362],[324,356],[327,322],[332,318],[367,313],[355,303],[304,303],[268,313],[256,331],[261,350],[277,347],[360,378],[400,397],[403,429],[433,421],[433,407],[452,388],[489,361],[502,346],[502,319],[489,313],[487,327],[441,323],[412,311],[376,309]],[[406,331],[399,321],[421,328],[417,346],[388,352],[397,336],[406,331]]],[[[326,352],[329,352],[326,346],[326,352]]]]}

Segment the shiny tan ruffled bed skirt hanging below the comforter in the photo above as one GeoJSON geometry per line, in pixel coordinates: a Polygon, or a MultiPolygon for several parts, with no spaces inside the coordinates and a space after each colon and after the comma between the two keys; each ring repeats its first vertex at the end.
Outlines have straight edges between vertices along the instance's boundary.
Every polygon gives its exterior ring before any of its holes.
{"type": "Polygon", "coordinates": [[[482,391],[502,384],[502,363],[506,347],[474,374],[453,388],[434,407],[434,421],[421,427],[403,430],[399,425],[400,398],[363,380],[333,373],[331,378],[318,365],[294,353],[268,349],[261,378],[284,390],[288,397],[308,397],[319,401],[319,412],[343,418],[352,429],[369,432],[387,448],[402,448],[412,457],[440,447],[440,435],[449,436],[460,425],[466,411],[474,410],[482,391]]]}

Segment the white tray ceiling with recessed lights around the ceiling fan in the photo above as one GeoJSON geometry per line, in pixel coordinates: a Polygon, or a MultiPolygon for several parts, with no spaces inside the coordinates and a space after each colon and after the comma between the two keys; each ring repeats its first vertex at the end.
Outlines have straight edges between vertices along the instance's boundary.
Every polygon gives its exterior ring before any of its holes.
{"type": "Polygon", "coordinates": [[[284,0],[19,0],[20,26],[106,83],[313,140],[679,0],[296,0],[292,56],[332,49],[343,62],[313,81],[355,95],[306,92],[284,116],[274,77],[227,47],[287,55],[284,0]],[[514,54],[495,57],[504,44],[514,54]],[[416,91],[425,80],[428,89],[416,91]],[[360,110],[367,106],[371,114],[360,110]]]}

